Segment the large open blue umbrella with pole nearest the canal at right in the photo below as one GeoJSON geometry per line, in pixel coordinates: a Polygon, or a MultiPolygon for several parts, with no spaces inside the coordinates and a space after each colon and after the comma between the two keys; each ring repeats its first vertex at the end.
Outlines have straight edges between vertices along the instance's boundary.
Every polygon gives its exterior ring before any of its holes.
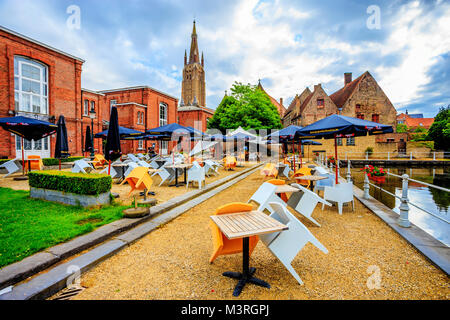
{"type": "MultiPolygon", "coordinates": [[[[299,129],[297,138],[325,138],[334,139],[334,152],[337,162],[337,138],[376,135],[394,132],[392,126],[333,114],[309,126],[299,129]]],[[[338,169],[336,165],[336,184],[338,184],[338,169]]]]}

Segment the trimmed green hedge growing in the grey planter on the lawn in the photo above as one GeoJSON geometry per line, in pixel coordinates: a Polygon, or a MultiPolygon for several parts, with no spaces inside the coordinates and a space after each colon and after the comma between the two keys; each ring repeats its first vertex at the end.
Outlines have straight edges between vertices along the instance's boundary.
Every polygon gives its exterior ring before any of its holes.
{"type": "Polygon", "coordinates": [[[111,190],[112,179],[107,174],[73,173],[58,170],[30,171],[30,187],[58,190],[84,195],[99,195],[111,190]]]}

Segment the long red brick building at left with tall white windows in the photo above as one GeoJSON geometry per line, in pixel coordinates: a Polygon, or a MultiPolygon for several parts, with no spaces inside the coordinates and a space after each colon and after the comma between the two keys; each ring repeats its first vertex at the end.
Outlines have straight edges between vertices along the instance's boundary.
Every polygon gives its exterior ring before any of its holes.
{"type": "MultiPolygon", "coordinates": [[[[178,99],[151,87],[141,86],[100,92],[81,88],[83,59],[0,27],[0,117],[23,115],[56,123],[66,119],[69,152],[82,155],[90,110],[95,110],[94,134],[108,127],[110,108],[116,105],[119,125],[144,131],[177,121],[178,99]]],[[[92,130],[92,129],[91,129],[92,130]]],[[[56,136],[25,141],[25,154],[52,157],[56,136]]],[[[101,152],[101,139],[94,147],[101,152]]],[[[122,152],[145,151],[153,143],[167,150],[167,142],[123,141],[122,152]]],[[[16,158],[20,139],[0,130],[0,157],[16,158]]]]}

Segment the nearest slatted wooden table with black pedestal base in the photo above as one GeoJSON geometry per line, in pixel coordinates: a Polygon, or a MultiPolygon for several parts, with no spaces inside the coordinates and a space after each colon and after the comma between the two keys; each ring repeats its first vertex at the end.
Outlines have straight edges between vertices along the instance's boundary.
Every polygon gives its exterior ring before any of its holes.
{"type": "Polygon", "coordinates": [[[239,280],[234,288],[233,296],[241,294],[247,282],[270,288],[270,285],[261,279],[253,277],[255,268],[249,268],[249,237],[272,232],[287,230],[288,227],[269,217],[261,211],[248,211],[210,216],[228,239],[242,239],[242,272],[226,271],[222,275],[239,280]]]}

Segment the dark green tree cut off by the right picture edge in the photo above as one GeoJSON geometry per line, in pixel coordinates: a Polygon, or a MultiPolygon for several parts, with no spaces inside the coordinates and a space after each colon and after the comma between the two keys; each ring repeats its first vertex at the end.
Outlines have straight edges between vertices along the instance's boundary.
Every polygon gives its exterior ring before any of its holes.
{"type": "Polygon", "coordinates": [[[428,130],[427,140],[434,141],[435,149],[450,150],[450,105],[439,109],[428,130]]]}

